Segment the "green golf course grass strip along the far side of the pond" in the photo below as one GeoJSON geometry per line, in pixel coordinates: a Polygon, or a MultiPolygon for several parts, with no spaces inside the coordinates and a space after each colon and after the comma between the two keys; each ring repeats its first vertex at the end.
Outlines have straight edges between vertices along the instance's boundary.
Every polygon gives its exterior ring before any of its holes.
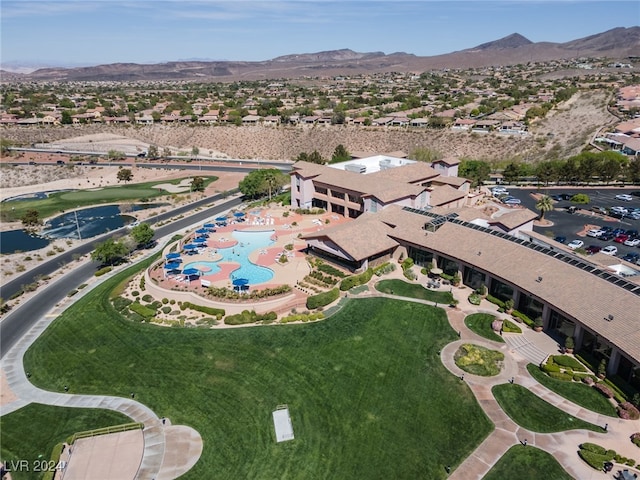
{"type": "MultiPolygon", "coordinates": [[[[205,186],[214,182],[218,177],[204,177],[205,186]]],[[[27,210],[37,210],[40,218],[48,218],[56,213],[71,210],[77,207],[99,205],[104,203],[116,203],[121,201],[140,201],[152,199],[162,195],[170,195],[165,190],[154,188],[161,183],[178,184],[183,179],[155,181],[146,183],[134,183],[131,185],[115,185],[99,190],[78,190],[72,192],[58,192],[41,200],[19,200],[2,202],[0,211],[3,221],[19,220],[27,210]]],[[[187,194],[189,192],[186,192],[187,194]]]]}

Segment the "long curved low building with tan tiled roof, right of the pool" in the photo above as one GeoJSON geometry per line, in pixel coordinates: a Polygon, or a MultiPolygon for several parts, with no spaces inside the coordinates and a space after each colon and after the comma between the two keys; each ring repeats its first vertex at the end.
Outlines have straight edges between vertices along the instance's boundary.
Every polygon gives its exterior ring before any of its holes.
{"type": "Polygon", "coordinates": [[[411,257],[415,264],[481,284],[545,329],[596,360],[608,375],[638,383],[640,285],[545,244],[533,234],[536,213],[514,210],[498,219],[472,208],[417,209],[387,205],[352,222],[303,237],[308,251],[354,271],[411,257]]]}

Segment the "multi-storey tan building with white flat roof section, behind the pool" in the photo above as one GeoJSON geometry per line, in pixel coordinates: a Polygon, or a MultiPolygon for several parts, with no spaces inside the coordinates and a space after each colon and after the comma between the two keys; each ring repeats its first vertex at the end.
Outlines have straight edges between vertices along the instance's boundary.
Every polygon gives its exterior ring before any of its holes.
{"type": "Polygon", "coordinates": [[[291,205],[350,218],[390,205],[461,207],[471,182],[457,177],[457,171],[457,160],[429,164],[386,155],[335,165],[296,162],[291,171],[291,205]]]}

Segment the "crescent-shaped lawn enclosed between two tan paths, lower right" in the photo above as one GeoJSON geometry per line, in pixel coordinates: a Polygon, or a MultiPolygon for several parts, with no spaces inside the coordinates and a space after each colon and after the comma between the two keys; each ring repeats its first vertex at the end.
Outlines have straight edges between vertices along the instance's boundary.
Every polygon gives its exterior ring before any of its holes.
{"type": "Polygon", "coordinates": [[[554,407],[522,385],[504,383],[491,391],[500,407],[521,427],[534,432],[552,433],[586,429],[604,433],[604,428],[585,422],[554,407]]]}

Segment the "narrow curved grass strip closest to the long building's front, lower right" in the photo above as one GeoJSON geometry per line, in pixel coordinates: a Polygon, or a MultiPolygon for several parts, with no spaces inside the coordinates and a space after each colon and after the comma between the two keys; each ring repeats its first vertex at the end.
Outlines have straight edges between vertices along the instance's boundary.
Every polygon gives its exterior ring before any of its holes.
{"type": "Polygon", "coordinates": [[[527,365],[527,371],[542,385],[549,390],[554,391],[558,395],[567,400],[580,405],[592,412],[608,415],[609,417],[617,417],[616,409],[609,399],[605,398],[595,388],[578,382],[565,382],[551,378],[544,373],[537,365],[530,363],[527,365]]]}

